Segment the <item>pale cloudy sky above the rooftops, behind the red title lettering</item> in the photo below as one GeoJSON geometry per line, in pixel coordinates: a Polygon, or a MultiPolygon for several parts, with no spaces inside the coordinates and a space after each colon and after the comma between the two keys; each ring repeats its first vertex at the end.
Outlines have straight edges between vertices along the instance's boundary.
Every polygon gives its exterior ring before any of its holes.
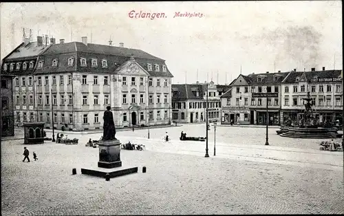
{"type": "MultiPolygon", "coordinates": [[[[50,34],[65,39],[144,50],[166,60],[173,83],[239,74],[343,69],[341,1],[184,1],[1,3],[1,60],[22,41],[50,34]],[[135,10],[164,13],[131,18],[135,10]],[[198,17],[175,17],[202,14],[198,17]],[[92,38],[92,40],[91,40],[92,38]]],[[[136,13],[135,12],[135,13],[136,13]]]]}

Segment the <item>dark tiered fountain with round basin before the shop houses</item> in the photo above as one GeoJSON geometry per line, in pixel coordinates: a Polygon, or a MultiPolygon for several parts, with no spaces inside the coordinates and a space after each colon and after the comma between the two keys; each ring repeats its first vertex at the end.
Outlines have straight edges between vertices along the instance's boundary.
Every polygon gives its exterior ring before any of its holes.
{"type": "Polygon", "coordinates": [[[314,100],[310,97],[308,91],[307,98],[302,98],[305,103],[305,109],[301,110],[302,118],[299,119],[297,126],[292,126],[287,122],[287,127],[281,127],[277,134],[289,138],[341,138],[343,134],[337,133],[338,129],[319,127],[319,118],[314,114],[314,100]]]}

